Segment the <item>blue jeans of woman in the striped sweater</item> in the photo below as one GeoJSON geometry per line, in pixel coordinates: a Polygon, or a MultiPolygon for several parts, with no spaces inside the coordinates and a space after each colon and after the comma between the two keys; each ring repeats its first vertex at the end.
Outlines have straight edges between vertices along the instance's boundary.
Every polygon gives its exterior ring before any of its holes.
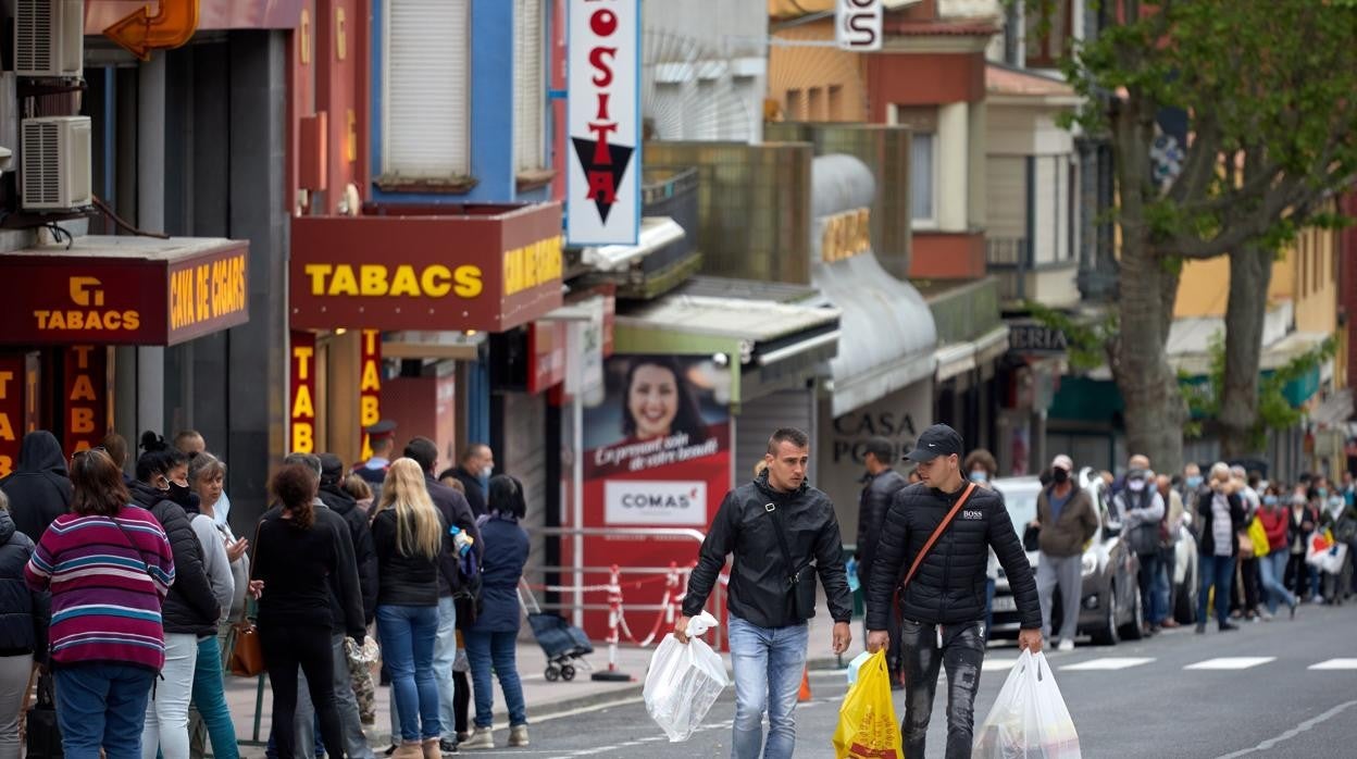
{"type": "Polygon", "coordinates": [[[76,664],[53,672],[66,759],[99,759],[99,747],[107,759],[140,759],[155,672],[125,664],[76,664]]]}

